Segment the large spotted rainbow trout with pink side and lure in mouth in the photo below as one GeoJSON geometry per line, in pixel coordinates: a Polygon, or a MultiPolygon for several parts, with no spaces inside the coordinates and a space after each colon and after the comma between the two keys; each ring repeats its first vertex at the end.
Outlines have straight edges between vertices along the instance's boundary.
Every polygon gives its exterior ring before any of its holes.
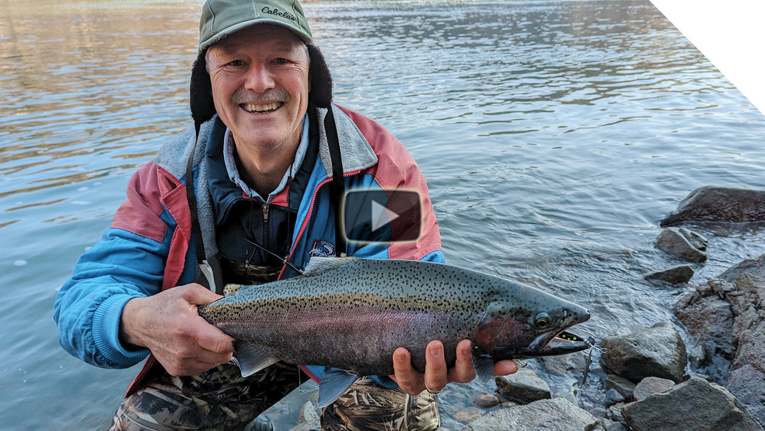
{"type": "Polygon", "coordinates": [[[284,361],[332,368],[319,383],[319,407],[363,376],[394,374],[404,347],[425,371],[425,347],[439,340],[451,367],[457,344],[473,342],[477,376],[503,359],[568,354],[590,347],[567,332],[587,309],[500,276],[420,260],[312,257],[304,273],[198,307],[236,339],[243,377],[284,361]]]}

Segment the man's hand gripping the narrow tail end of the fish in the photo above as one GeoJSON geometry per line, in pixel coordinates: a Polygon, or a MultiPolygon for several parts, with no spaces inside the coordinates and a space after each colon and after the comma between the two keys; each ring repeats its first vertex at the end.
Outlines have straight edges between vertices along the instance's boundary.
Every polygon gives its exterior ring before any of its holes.
{"type": "Polygon", "coordinates": [[[149,348],[173,376],[200,374],[231,360],[233,338],[200,317],[197,305],[220,299],[198,284],[178,286],[122,309],[119,339],[149,348]]]}

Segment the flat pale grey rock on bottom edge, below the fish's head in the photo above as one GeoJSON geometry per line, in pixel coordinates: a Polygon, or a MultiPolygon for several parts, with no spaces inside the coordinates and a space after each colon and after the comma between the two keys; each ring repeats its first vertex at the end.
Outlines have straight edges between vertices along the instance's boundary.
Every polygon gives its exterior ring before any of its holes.
{"type": "Polygon", "coordinates": [[[604,430],[595,416],[562,398],[494,410],[462,431],[596,431],[604,430]]]}

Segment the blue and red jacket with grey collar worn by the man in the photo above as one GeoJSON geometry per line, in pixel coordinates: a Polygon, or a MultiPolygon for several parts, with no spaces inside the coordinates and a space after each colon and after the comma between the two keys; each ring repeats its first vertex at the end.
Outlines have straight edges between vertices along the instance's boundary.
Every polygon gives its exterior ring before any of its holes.
{"type": "MultiPolygon", "coordinates": [[[[304,267],[317,244],[334,247],[334,207],[330,201],[331,164],[324,133],[326,109],[317,109],[319,157],[298,208],[288,260],[304,267]]],[[[334,106],[343,159],[346,190],[405,188],[422,197],[422,235],[415,242],[348,243],[348,256],[443,262],[441,237],[422,172],[404,146],[373,120],[334,106]]],[[[187,129],[166,142],[156,158],[138,169],[129,181],[127,201],[101,240],[78,260],[73,276],[61,287],[54,319],[62,347],[99,367],[125,368],[138,364],[148,349],[128,350],[119,341],[122,308],[130,299],[199,281],[191,217],[186,193],[187,160],[194,152],[194,190],[204,238],[205,255],[216,263],[215,216],[208,189],[205,149],[214,117],[200,129],[187,129]],[[198,142],[197,145],[194,145],[198,142]]],[[[213,137],[214,138],[214,137],[213,137]]],[[[287,199],[288,191],[272,203],[287,199]]],[[[280,278],[295,276],[285,266],[280,278]]],[[[156,365],[153,358],[136,377],[132,390],[156,365]]]]}

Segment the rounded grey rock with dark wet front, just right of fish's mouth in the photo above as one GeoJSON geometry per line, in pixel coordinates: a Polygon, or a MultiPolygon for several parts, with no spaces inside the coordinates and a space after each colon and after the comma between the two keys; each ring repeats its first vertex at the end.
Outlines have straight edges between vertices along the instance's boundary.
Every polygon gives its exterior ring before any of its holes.
{"type": "Polygon", "coordinates": [[[605,337],[601,361],[622,377],[639,382],[663,377],[675,382],[685,374],[685,344],[670,323],[657,323],[630,335],[605,337]]]}

